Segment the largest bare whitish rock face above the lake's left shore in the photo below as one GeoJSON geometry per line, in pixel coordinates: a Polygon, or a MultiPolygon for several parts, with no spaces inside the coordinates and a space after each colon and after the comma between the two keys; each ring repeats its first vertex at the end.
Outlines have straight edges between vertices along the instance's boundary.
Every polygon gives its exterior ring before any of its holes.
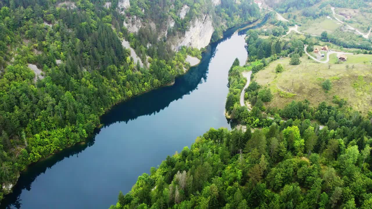
{"type": "Polygon", "coordinates": [[[208,46],[213,32],[212,18],[205,15],[203,19],[196,19],[185,35],[174,42],[173,49],[178,50],[181,46],[191,46],[198,49],[208,46]]]}

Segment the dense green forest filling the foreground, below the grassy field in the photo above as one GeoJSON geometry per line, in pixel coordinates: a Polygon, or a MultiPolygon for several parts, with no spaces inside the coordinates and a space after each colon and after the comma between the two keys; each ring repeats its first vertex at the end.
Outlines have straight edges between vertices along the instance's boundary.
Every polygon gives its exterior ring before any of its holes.
{"type": "Polygon", "coordinates": [[[252,131],[211,129],[138,177],[110,209],[371,208],[370,120],[324,104],[294,105],[310,119],[327,115],[327,126],[269,119],[252,131]]]}

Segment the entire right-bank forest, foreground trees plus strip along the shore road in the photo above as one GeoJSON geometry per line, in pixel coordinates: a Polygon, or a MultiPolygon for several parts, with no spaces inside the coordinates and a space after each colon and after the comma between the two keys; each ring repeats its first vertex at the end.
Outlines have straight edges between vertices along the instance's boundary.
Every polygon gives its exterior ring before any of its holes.
{"type": "Polygon", "coordinates": [[[332,102],[338,106],[303,100],[279,109],[269,106],[270,88],[254,80],[244,95],[250,108],[240,105],[247,82],[243,71],[252,71],[253,79],[287,56],[291,65],[299,65],[304,43],[315,41],[262,34],[247,32],[248,63],[240,66],[236,59],[229,70],[226,112],[246,131],[210,129],[190,148],[139,176],[110,209],[371,209],[372,112],[361,115],[337,97],[332,102]]]}

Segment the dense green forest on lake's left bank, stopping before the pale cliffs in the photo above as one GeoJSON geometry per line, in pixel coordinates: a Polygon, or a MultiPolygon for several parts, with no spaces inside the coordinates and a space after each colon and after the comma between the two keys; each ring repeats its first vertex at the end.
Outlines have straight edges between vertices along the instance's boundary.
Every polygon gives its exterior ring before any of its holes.
{"type": "Polygon", "coordinates": [[[29,163],[83,141],[115,103],[183,73],[177,67],[183,56],[166,61],[154,55],[148,68],[136,66],[108,10],[89,1],[76,9],[39,3],[10,1],[0,10],[6,29],[0,32],[1,184],[14,183],[29,163]],[[42,69],[44,79],[34,82],[28,64],[42,69]]]}

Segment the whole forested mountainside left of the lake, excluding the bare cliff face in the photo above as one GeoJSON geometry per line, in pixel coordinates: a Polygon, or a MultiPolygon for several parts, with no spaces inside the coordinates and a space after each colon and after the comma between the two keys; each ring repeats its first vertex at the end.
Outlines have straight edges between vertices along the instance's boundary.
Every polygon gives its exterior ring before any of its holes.
{"type": "Polygon", "coordinates": [[[0,199],[27,165],[84,141],[110,107],[171,84],[189,68],[186,55],[201,57],[199,49],[174,51],[159,38],[163,16],[189,5],[187,17],[171,30],[182,35],[200,12],[217,13],[217,39],[227,27],[260,15],[250,1],[125,2],[0,1],[0,199]],[[119,9],[125,2],[130,6],[119,9]],[[243,14],[243,7],[251,13],[243,14]],[[145,25],[129,31],[124,22],[131,15],[156,20],[157,30],[145,25]]]}

